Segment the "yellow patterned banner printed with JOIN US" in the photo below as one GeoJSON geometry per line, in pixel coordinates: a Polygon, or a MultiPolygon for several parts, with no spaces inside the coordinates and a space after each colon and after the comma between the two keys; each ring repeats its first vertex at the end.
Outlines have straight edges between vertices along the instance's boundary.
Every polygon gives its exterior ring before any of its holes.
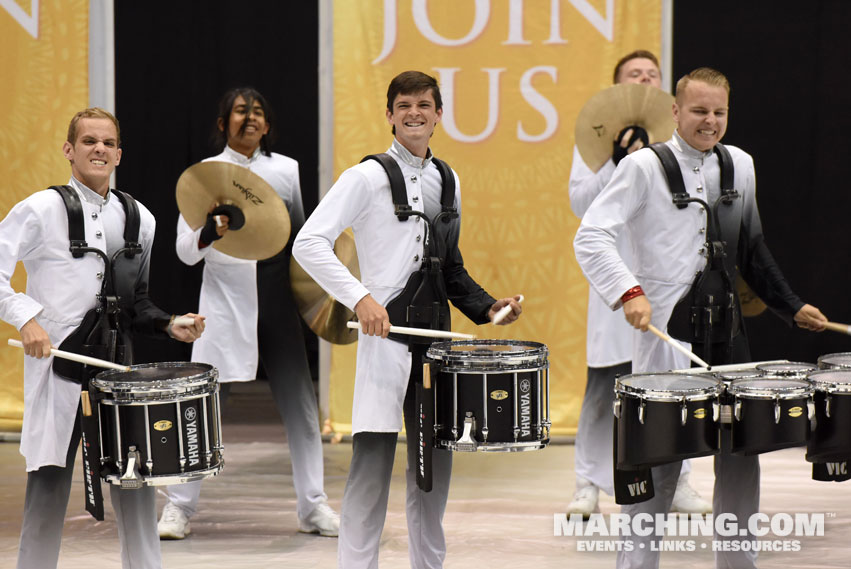
{"type": "MultiPolygon", "coordinates": [[[[521,319],[454,329],[550,350],[554,434],[573,434],[585,388],[588,286],[573,255],[567,181],[574,120],[617,60],[659,53],[661,0],[338,0],[334,2],[334,172],[384,151],[390,79],[437,77],[435,155],[461,178],[461,250],[495,297],[523,294],[521,319]]],[[[388,197],[389,199],[389,197],[388,197]]],[[[331,418],[351,430],[353,346],[332,352],[331,418]]]]}

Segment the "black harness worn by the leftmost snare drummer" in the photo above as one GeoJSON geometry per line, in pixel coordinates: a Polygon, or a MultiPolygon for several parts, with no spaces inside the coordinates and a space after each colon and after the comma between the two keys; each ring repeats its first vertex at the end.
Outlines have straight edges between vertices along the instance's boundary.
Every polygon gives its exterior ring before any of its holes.
{"type": "MultiPolygon", "coordinates": [[[[97,295],[97,305],[85,314],[80,326],[59,347],[69,352],[129,364],[133,360],[133,348],[128,332],[130,315],[125,307],[130,307],[133,303],[131,292],[133,282],[125,282],[129,279],[123,273],[117,275],[115,267],[116,261],[121,255],[131,260],[138,255],[137,261],[141,259],[139,206],[130,194],[112,190],[112,193],[124,206],[126,221],[124,224],[124,247],[116,251],[110,258],[100,249],[89,247],[86,243],[83,208],[77,192],[70,186],[51,186],[50,189],[59,192],[62,201],[65,203],[65,210],[68,214],[68,238],[71,255],[75,259],[79,259],[86,253],[94,253],[101,257],[104,263],[103,284],[100,294],[97,295]],[[124,293],[122,295],[119,294],[119,286],[121,292],[124,293]]],[[[131,263],[131,265],[135,267],[136,263],[131,263]]],[[[82,384],[83,389],[87,389],[89,380],[99,370],[85,364],[54,358],[53,371],[64,379],[82,384]]]]}

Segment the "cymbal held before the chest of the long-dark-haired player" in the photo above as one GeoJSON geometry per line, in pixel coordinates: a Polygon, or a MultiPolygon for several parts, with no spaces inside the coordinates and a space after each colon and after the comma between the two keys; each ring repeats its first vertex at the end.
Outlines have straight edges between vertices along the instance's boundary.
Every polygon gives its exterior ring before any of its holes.
{"type": "MultiPolygon", "coordinates": [[[[229,229],[213,248],[240,259],[268,259],[290,238],[287,206],[272,186],[247,168],[229,162],[201,162],[177,180],[177,208],[193,230],[207,221],[215,205],[235,207],[244,224],[229,229]]],[[[231,215],[231,223],[236,215],[231,215]]]]}

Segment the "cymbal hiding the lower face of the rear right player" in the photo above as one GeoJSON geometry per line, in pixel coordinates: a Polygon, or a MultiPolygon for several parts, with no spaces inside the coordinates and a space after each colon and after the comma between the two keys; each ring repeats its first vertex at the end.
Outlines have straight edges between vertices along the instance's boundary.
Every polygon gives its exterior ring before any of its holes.
{"type": "Polygon", "coordinates": [[[621,83],[600,91],[585,103],[576,118],[576,146],[582,160],[596,172],[612,157],[612,142],[630,125],[647,131],[650,143],[671,138],[676,128],[671,108],[674,97],[636,83],[621,83]]]}

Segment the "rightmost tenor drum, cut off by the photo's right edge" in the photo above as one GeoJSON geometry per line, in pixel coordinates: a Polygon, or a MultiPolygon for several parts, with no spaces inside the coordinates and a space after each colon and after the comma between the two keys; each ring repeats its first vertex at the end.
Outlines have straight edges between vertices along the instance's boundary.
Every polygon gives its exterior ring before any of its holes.
{"type": "Polygon", "coordinates": [[[808,379],[813,384],[816,419],[807,441],[807,460],[847,460],[851,457],[851,369],[816,371],[808,379]]]}

